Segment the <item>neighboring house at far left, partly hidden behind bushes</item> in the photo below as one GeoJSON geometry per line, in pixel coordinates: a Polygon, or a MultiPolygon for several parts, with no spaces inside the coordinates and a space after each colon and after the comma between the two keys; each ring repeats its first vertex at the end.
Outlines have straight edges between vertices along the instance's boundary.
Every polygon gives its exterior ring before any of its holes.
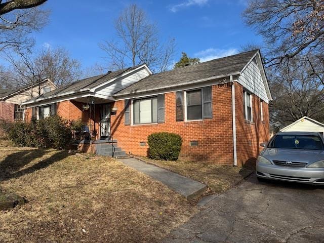
{"type": "Polygon", "coordinates": [[[56,86],[50,79],[44,79],[37,84],[25,85],[14,90],[0,89],[0,119],[22,120],[24,115],[22,102],[55,89],[56,86]]]}

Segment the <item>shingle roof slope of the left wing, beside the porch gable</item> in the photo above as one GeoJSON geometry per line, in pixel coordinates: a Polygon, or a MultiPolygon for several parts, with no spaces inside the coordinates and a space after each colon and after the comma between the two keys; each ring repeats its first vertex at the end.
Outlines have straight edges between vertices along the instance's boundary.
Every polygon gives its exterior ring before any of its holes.
{"type": "Polygon", "coordinates": [[[105,74],[80,79],[80,80],[77,80],[69,85],[66,85],[64,87],[61,87],[61,88],[53,90],[53,91],[50,91],[48,93],[45,93],[38,97],[35,97],[34,99],[31,99],[31,100],[36,100],[38,98],[46,99],[46,98],[49,98],[52,96],[58,96],[58,95],[62,95],[64,93],[68,93],[68,92],[77,92],[77,91],[80,91],[83,89],[91,89],[91,88],[94,88],[102,83],[107,82],[109,79],[114,78],[114,77],[118,76],[119,74],[122,74],[126,71],[130,71],[137,67],[138,66],[124,68],[124,69],[120,69],[120,70],[113,71],[113,72],[109,71],[108,73],[105,73],[105,74]]]}

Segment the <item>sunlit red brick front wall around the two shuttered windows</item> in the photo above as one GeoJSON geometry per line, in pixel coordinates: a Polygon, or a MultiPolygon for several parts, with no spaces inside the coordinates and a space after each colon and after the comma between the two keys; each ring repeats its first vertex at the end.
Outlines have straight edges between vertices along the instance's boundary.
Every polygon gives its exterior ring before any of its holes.
{"type": "Polygon", "coordinates": [[[202,121],[176,121],[176,93],[165,95],[165,123],[154,125],[124,125],[124,100],[114,102],[117,114],[111,116],[111,134],[118,146],[127,153],[146,155],[147,141],[154,132],[174,132],[183,138],[181,157],[210,161],[218,164],[233,164],[231,87],[229,84],[212,87],[213,118],[202,121]],[[198,140],[199,146],[190,147],[189,141],[198,140]]]}

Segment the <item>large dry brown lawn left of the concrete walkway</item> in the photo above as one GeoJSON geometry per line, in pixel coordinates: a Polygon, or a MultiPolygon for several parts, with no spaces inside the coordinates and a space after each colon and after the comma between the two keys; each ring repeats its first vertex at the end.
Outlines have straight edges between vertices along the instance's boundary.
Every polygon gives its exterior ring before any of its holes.
{"type": "Polygon", "coordinates": [[[0,148],[0,189],[28,203],[0,212],[0,242],[156,242],[196,208],[108,157],[0,148]]]}

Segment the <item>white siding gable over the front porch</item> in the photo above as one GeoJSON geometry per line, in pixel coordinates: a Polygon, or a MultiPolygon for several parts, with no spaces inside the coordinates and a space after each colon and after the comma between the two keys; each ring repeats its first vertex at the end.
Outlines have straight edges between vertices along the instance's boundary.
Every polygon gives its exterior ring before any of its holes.
{"type": "Polygon", "coordinates": [[[108,84],[98,88],[95,93],[98,95],[111,97],[114,93],[129,87],[148,75],[150,75],[150,73],[146,68],[143,67],[135,72],[121,76],[112,82],[109,82],[108,84]]]}

